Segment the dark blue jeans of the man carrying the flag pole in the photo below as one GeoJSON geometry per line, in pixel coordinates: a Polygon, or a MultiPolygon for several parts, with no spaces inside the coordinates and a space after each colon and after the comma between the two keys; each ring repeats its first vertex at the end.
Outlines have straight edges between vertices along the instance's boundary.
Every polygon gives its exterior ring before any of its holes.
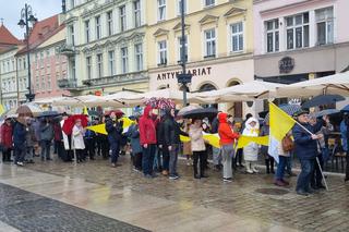
{"type": "Polygon", "coordinates": [[[309,185],[314,170],[314,159],[299,159],[301,162],[301,173],[297,180],[296,191],[309,192],[309,185]]]}

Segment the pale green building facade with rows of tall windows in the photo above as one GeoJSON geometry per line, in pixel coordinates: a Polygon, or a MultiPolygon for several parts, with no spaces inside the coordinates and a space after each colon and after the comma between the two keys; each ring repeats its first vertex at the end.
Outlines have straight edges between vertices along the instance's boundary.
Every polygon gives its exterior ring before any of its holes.
{"type": "Polygon", "coordinates": [[[72,95],[107,95],[148,89],[145,0],[67,2],[69,78],[59,86],[72,95]]]}

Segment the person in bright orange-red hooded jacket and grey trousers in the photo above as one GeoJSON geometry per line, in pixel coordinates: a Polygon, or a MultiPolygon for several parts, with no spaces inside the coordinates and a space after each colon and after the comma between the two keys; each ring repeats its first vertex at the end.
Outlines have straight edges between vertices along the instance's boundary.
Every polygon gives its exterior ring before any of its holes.
{"type": "Polygon", "coordinates": [[[219,143],[221,149],[222,157],[222,181],[231,182],[232,180],[232,169],[231,169],[231,160],[233,157],[233,144],[237,138],[239,138],[239,134],[234,133],[232,127],[228,124],[228,114],[219,113],[219,143]]]}

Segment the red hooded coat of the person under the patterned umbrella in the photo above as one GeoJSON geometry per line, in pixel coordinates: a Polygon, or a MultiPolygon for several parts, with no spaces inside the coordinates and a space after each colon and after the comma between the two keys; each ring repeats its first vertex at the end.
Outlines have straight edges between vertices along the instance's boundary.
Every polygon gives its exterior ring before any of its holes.
{"type": "Polygon", "coordinates": [[[140,119],[140,141],[141,145],[156,144],[156,122],[149,117],[152,107],[147,106],[140,119]]]}

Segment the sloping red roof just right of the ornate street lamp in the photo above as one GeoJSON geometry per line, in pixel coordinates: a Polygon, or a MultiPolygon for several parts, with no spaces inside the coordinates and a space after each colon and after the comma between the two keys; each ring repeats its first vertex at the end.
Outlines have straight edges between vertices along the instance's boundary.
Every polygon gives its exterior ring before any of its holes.
{"type": "MultiPolygon", "coordinates": [[[[59,25],[58,14],[37,22],[29,34],[29,49],[36,48],[62,28],[64,28],[64,25],[59,25]]],[[[24,47],[17,54],[22,54],[26,50],[26,47],[24,47]]]]}

